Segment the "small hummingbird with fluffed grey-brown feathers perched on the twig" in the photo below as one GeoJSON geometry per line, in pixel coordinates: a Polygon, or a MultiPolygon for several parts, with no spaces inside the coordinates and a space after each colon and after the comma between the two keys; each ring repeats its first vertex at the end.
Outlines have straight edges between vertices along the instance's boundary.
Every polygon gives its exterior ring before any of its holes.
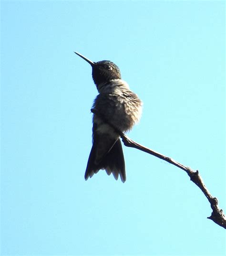
{"type": "Polygon", "coordinates": [[[131,130],[140,120],[142,101],[122,80],[116,64],[106,60],[92,62],[82,54],[76,54],[91,65],[92,79],[99,93],[92,106],[100,115],[93,114],[92,118],[92,149],[85,180],[91,178],[94,173],[105,170],[108,175],[113,173],[115,180],[118,180],[120,175],[124,183],[126,174],[123,148],[119,134],[113,127],[122,132],[131,130]]]}

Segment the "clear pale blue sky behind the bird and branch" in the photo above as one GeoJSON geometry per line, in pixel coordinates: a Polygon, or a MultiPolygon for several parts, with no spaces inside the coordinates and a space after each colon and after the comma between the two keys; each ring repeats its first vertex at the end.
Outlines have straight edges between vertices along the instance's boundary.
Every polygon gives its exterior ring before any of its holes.
{"type": "Polygon", "coordinates": [[[144,102],[129,134],[198,169],[226,212],[224,1],[1,2],[1,255],[225,255],[175,166],[123,147],[127,181],[84,180],[92,61],[144,102]]]}

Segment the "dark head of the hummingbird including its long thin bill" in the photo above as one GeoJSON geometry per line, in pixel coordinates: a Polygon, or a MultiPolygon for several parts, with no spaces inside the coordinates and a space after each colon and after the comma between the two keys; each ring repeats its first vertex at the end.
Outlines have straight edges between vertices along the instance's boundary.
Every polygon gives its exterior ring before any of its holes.
{"type": "MultiPolygon", "coordinates": [[[[74,52],[76,53],[76,52],[74,52]]],[[[80,53],[76,53],[82,59],[87,61],[92,66],[92,79],[95,85],[111,81],[113,79],[121,79],[120,69],[111,61],[92,62],[85,58],[80,53]]]]}

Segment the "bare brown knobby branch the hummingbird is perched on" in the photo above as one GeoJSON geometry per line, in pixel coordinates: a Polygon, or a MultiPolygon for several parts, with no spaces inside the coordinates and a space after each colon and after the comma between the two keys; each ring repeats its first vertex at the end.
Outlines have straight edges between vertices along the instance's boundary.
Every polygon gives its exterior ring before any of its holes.
{"type": "Polygon", "coordinates": [[[99,117],[101,117],[103,119],[104,122],[106,122],[107,124],[109,124],[112,128],[114,128],[114,130],[120,135],[120,137],[123,140],[123,143],[126,147],[131,147],[131,148],[135,148],[135,149],[139,149],[141,151],[144,151],[148,154],[151,154],[157,158],[160,158],[168,163],[171,163],[177,167],[179,167],[180,169],[186,171],[187,175],[190,177],[191,181],[193,181],[199,188],[200,190],[205,194],[205,197],[208,199],[210,206],[213,210],[213,212],[211,213],[211,216],[207,217],[208,219],[214,221],[216,224],[226,228],[226,216],[223,212],[222,209],[220,209],[218,207],[218,200],[216,197],[213,197],[210,192],[207,190],[201,176],[199,175],[198,170],[194,171],[192,170],[190,167],[186,167],[183,164],[173,160],[170,157],[166,157],[152,149],[148,149],[138,143],[136,143],[135,141],[133,141],[132,139],[128,138],[123,132],[121,132],[120,130],[118,130],[117,128],[115,128],[109,121],[107,121],[101,114],[98,113],[98,111],[94,108],[91,109],[91,112],[94,113],[95,115],[98,115],[99,117]]]}

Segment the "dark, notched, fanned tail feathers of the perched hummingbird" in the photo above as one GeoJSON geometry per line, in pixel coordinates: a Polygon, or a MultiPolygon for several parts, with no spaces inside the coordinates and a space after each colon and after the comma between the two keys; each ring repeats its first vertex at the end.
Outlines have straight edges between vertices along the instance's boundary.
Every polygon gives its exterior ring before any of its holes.
{"type": "Polygon", "coordinates": [[[89,177],[91,178],[94,173],[97,173],[99,170],[105,169],[108,175],[113,173],[115,180],[118,180],[118,176],[120,175],[123,183],[126,181],[125,161],[120,139],[116,140],[111,150],[98,164],[95,164],[95,156],[96,147],[95,144],[93,144],[85,171],[85,180],[87,180],[89,177]]]}

